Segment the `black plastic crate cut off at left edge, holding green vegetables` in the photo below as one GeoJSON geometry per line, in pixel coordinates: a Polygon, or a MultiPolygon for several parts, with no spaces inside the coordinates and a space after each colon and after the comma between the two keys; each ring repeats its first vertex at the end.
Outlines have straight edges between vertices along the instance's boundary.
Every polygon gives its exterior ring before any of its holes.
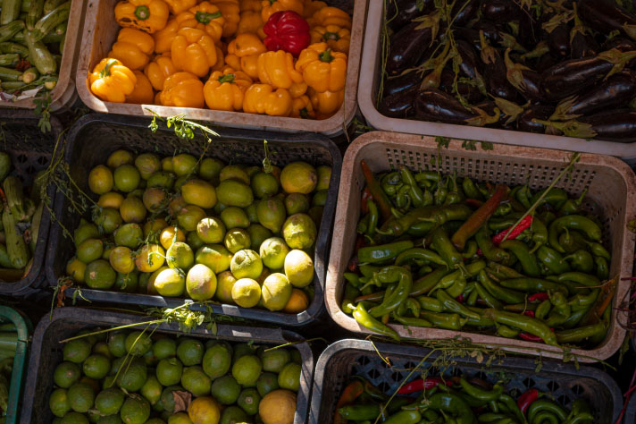
{"type": "MultiPolygon", "coordinates": [[[[12,175],[21,179],[24,187],[30,187],[36,174],[46,169],[54,155],[56,141],[62,133],[62,125],[51,116],[51,131],[43,133],[38,127],[39,116],[28,110],[0,110],[0,151],[8,153],[12,162],[12,175]]],[[[63,143],[60,140],[59,146],[63,143]]],[[[49,188],[49,198],[53,200],[54,189],[49,188]]],[[[20,294],[41,284],[38,280],[44,267],[46,242],[51,216],[44,208],[38,231],[38,242],[29,273],[13,283],[0,280],[0,294],[20,294]]]]}

